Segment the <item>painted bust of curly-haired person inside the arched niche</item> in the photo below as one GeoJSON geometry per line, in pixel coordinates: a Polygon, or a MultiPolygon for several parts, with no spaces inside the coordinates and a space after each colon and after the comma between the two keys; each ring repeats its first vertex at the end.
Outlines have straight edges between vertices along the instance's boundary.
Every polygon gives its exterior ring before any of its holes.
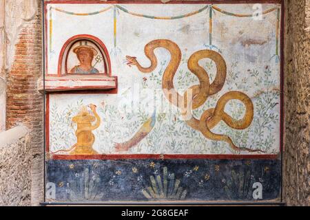
{"type": "Polygon", "coordinates": [[[99,70],[92,66],[94,56],[98,52],[94,47],[87,45],[87,41],[84,43],[81,41],[80,45],[73,49],[74,54],[80,61],[80,65],[76,65],[70,70],[70,74],[98,74],[99,70]]]}

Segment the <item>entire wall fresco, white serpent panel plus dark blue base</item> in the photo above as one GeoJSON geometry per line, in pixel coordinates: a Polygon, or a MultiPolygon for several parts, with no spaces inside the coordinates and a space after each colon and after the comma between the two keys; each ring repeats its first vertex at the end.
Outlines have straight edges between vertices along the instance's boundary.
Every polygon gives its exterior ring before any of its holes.
{"type": "Polygon", "coordinates": [[[118,78],[113,92],[47,95],[54,201],[247,201],[255,182],[279,198],[279,4],[261,19],[250,3],[45,7],[45,74],[81,36],[67,74],[103,80],[109,65],[118,78]]]}

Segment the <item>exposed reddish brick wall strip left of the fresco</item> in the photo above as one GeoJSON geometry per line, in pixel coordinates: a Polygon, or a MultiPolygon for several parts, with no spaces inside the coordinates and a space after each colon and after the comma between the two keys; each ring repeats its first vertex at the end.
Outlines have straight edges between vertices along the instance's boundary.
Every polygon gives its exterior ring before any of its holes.
{"type": "MultiPolygon", "coordinates": [[[[23,19],[17,33],[14,33],[18,34],[18,38],[12,67],[6,76],[6,127],[11,129],[22,124],[30,131],[31,198],[32,204],[37,205],[43,200],[43,95],[37,91],[37,80],[42,75],[41,5],[24,6],[32,7],[35,16],[29,21],[23,19]]],[[[16,7],[19,5],[12,3],[13,12],[19,12],[16,7]]]]}

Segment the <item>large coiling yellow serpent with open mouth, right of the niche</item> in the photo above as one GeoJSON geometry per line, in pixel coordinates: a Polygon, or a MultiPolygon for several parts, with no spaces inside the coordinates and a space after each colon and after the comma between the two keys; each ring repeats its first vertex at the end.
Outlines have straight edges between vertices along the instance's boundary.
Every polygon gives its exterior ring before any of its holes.
{"type": "Polygon", "coordinates": [[[206,102],[209,96],[217,94],[221,89],[223,89],[227,72],[226,63],[223,57],[212,50],[200,50],[192,54],[192,56],[190,56],[189,58],[187,66],[189,70],[198,77],[200,84],[189,87],[191,91],[187,89],[187,91],[185,91],[185,94],[181,96],[180,94],[178,94],[178,91],[174,89],[174,76],[182,58],[180,47],[178,47],[176,43],[167,39],[158,39],[151,41],[147,45],[145,45],[145,56],[147,56],[149,61],[151,61],[151,65],[149,67],[142,67],[138,63],[138,61],[136,61],[136,57],[126,56],[126,59],[128,61],[127,65],[136,65],[138,70],[142,73],[150,73],[154,71],[154,69],[157,67],[157,58],[154,54],[154,50],[158,47],[165,48],[171,54],[171,59],[163,74],[163,93],[165,94],[165,97],[167,98],[167,100],[169,100],[170,103],[180,108],[183,118],[185,118],[185,115],[190,114],[190,117],[185,119],[187,124],[193,129],[203,133],[203,135],[209,140],[224,141],[229,143],[229,145],[232,149],[234,149],[234,151],[263,153],[264,151],[261,151],[259,149],[238,147],[227,135],[216,134],[211,131],[211,129],[213,129],[214,126],[216,126],[216,124],[218,124],[218,122],[220,122],[221,120],[223,120],[228,126],[233,129],[241,130],[247,129],[247,127],[249,127],[254,116],[254,106],[251,102],[251,99],[246,94],[240,91],[227,92],[220,97],[214,109],[207,109],[203,112],[200,120],[194,118],[192,112],[189,113],[187,110],[189,104],[192,104],[192,109],[197,109],[206,102]],[[209,58],[214,61],[214,63],[216,63],[216,78],[211,84],[209,82],[209,75],[207,74],[205,69],[198,65],[198,61],[203,58],[209,58]],[[193,98],[192,100],[189,100],[189,103],[187,103],[187,96],[189,92],[192,92],[193,98]],[[234,118],[231,118],[231,116],[224,111],[227,102],[234,99],[240,100],[243,104],[245,104],[245,115],[240,120],[234,120],[234,118]]]}

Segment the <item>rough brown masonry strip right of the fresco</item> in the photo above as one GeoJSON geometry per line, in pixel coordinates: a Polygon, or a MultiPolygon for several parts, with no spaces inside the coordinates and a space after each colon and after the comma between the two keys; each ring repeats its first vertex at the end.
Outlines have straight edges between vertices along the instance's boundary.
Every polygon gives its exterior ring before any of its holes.
{"type": "Polygon", "coordinates": [[[310,1],[286,1],[285,166],[287,205],[310,206],[310,1]]]}

